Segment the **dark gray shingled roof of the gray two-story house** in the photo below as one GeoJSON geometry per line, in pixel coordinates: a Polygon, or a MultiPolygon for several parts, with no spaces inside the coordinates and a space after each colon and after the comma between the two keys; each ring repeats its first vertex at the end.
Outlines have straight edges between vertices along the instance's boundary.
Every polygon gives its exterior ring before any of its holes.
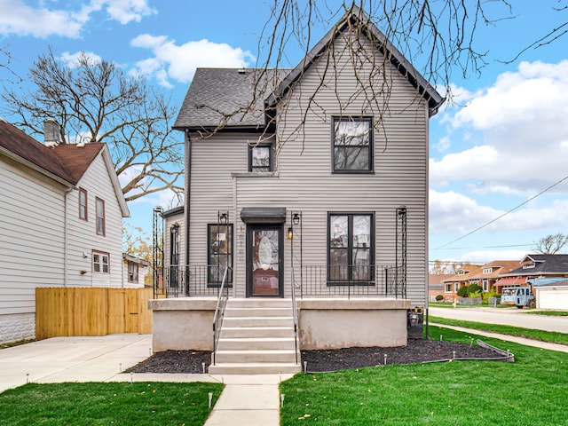
{"type": "Polygon", "coordinates": [[[376,48],[388,53],[390,63],[428,101],[430,116],[438,112],[444,98],[406,60],[365,12],[352,5],[319,43],[294,68],[197,68],[173,128],[177,130],[261,130],[266,111],[287,93],[330,43],[353,24],[376,48]],[[258,77],[261,77],[260,79],[258,77]]]}

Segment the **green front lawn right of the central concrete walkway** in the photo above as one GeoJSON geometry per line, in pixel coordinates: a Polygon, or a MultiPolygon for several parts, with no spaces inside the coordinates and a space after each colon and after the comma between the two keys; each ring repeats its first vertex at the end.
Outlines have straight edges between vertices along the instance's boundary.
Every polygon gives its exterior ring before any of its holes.
{"type": "MultiPolygon", "coordinates": [[[[431,327],[444,340],[465,333],[431,327]]],[[[456,361],[296,375],[280,384],[283,426],[568,425],[568,354],[483,338],[516,362],[456,361]]]]}

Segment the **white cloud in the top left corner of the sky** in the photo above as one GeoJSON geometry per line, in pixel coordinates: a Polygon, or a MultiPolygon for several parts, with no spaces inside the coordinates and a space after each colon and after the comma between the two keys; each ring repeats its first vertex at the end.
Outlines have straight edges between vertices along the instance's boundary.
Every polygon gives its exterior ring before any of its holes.
{"type": "Polygon", "coordinates": [[[148,0],[91,0],[78,10],[49,9],[40,2],[29,5],[25,0],[0,0],[0,34],[17,36],[62,36],[78,38],[91,14],[106,11],[112,20],[121,24],[140,21],[155,13],[148,0]]]}

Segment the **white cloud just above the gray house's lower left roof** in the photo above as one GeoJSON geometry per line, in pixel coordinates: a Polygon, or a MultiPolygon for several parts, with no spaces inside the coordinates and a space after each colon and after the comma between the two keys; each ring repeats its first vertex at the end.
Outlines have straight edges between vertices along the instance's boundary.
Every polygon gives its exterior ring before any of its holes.
{"type": "Polygon", "coordinates": [[[130,74],[155,76],[165,87],[171,87],[170,79],[190,82],[197,67],[246,67],[255,60],[249,51],[207,39],[177,45],[166,36],[143,34],[131,45],[149,49],[154,56],[138,61],[130,74]]]}

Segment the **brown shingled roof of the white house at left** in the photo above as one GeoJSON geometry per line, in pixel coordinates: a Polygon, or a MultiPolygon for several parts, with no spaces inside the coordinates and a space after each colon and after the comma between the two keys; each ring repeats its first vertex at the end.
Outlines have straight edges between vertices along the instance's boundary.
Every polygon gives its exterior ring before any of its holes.
{"type": "Polygon", "coordinates": [[[89,166],[100,154],[111,179],[122,217],[130,216],[106,144],[91,143],[85,146],[60,144],[50,148],[9,122],[0,119],[0,154],[71,188],[79,183],[89,166]]]}

